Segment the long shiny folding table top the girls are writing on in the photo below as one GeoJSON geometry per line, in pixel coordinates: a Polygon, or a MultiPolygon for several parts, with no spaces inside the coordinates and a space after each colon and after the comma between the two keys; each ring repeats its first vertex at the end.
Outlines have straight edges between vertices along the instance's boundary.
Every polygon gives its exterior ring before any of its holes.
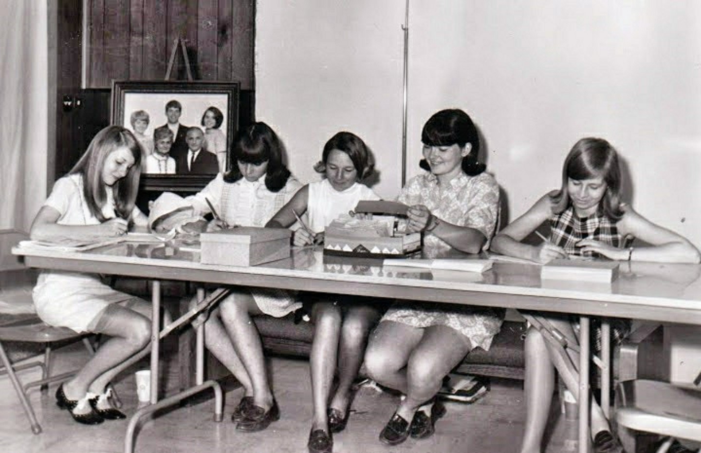
{"type": "MultiPolygon", "coordinates": [[[[27,266],[501,306],[701,325],[701,265],[622,262],[613,283],[541,280],[540,266],[495,262],[482,274],[383,266],[381,259],[335,257],[320,248],[292,249],[289,259],[259,266],[200,264],[196,247],[121,243],[84,252],[13,248],[27,266]]],[[[451,258],[470,255],[451,253],[451,258]]]]}

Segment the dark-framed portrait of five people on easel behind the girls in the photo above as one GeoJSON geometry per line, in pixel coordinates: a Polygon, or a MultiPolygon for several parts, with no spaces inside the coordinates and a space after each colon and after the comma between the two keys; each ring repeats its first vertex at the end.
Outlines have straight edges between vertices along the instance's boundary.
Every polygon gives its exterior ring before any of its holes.
{"type": "Polygon", "coordinates": [[[239,91],[238,82],[112,82],[111,123],[144,149],[142,190],[198,191],[226,170],[239,91]]]}

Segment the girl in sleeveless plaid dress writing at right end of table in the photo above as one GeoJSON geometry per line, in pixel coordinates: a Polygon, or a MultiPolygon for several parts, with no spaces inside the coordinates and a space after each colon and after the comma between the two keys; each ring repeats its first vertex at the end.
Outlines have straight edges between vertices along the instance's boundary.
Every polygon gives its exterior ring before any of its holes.
{"type": "MultiPolygon", "coordinates": [[[[524,215],[494,237],[491,250],[503,255],[547,263],[572,255],[604,257],[617,261],[698,263],[699,251],[686,238],[660,227],[635,212],[620,199],[620,168],[615,149],[600,138],[579,140],[565,158],[562,187],[545,194],[524,215]],[[540,245],[521,241],[541,224],[550,224],[550,238],[540,245]],[[632,247],[633,238],[649,245],[632,247]]],[[[551,327],[577,342],[566,316],[541,316],[551,327]]],[[[577,377],[540,333],[531,326],[526,336],[526,432],[522,453],[540,452],[557,367],[564,384],[578,393],[577,377]]],[[[567,349],[573,363],[578,356],[567,349]]],[[[601,407],[592,398],[594,452],[622,452],[613,438],[601,407]]]]}

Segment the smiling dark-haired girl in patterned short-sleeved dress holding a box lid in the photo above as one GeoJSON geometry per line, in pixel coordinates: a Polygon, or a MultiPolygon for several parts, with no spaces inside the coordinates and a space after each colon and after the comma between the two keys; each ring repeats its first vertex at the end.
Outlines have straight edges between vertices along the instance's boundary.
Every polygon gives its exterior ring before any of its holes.
{"type": "MultiPolygon", "coordinates": [[[[421,166],[428,171],[410,180],[399,196],[410,205],[409,231],[423,231],[429,255],[450,248],[479,253],[494,234],[499,187],[477,161],[475,125],[462,110],[442,110],[423,126],[421,141],[421,166]]],[[[397,445],[409,435],[432,435],[445,412],[435,403],[443,378],[472,349],[489,349],[502,321],[502,310],[395,302],[365,353],[369,375],[406,395],[380,440],[397,445]]]]}

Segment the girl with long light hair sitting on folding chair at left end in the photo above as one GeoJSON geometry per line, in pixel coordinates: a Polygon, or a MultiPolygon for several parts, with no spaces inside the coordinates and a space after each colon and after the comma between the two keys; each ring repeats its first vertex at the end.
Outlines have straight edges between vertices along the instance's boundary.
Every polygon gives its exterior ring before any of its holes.
{"type": "MultiPolygon", "coordinates": [[[[35,241],[121,236],[130,224],[146,226],[135,206],[142,151],[132,133],[108,126],[68,175],[58,180],[32,224],[35,241]]],[[[33,292],[41,320],[76,332],[109,336],[76,375],[56,392],[59,407],[82,424],[123,419],[107,384],[142,358],[151,337],[151,304],[102,283],[92,273],[42,271],[33,292]]],[[[165,316],[170,323],[170,317],[165,316]]]]}

